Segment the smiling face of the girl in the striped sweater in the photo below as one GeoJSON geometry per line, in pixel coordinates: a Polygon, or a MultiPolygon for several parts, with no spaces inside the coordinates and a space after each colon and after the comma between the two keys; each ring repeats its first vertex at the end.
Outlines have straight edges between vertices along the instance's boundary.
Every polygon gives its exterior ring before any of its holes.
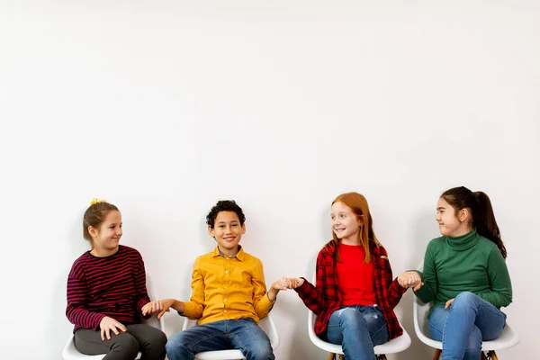
{"type": "Polygon", "coordinates": [[[105,220],[97,229],[90,226],[88,232],[92,236],[92,254],[98,257],[114,254],[122,235],[121,213],[109,211],[105,220]]]}

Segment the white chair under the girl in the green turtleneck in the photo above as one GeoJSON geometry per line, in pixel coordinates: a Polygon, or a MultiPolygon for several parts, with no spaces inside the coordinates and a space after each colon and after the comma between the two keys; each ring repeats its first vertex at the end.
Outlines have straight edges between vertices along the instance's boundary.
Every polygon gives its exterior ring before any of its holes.
{"type": "MultiPolygon", "coordinates": [[[[422,271],[424,268],[424,263],[420,263],[418,270],[422,271]]],[[[428,347],[434,347],[435,354],[433,360],[438,360],[441,356],[441,351],[443,349],[443,343],[432,338],[429,338],[429,325],[428,325],[428,311],[431,307],[431,302],[424,303],[417,296],[412,305],[413,318],[414,318],[414,331],[416,332],[417,337],[421,342],[426,344],[428,347]]],[[[506,349],[510,347],[515,347],[518,345],[519,336],[510,328],[509,323],[507,322],[499,338],[491,341],[482,341],[482,351],[485,354],[482,354],[482,359],[491,359],[498,360],[499,357],[495,354],[496,350],[506,349]]]]}

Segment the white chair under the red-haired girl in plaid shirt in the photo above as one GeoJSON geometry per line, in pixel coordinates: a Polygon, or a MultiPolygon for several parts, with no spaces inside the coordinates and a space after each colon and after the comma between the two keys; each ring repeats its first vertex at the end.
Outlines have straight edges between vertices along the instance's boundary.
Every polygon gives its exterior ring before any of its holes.
{"type": "MultiPolygon", "coordinates": [[[[315,284],[315,282],[316,276],[313,275],[313,284],[315,284]]],[[[310,335],[310,339],[313,345],[319,347],[324,351],[328,351],[330,353],[329,360],[334,359],[336,356],[342,358],[343,348],[341,347],[341,345],[336,345],[323,341],[317,336],[317,334],[315,334],[316,321],[317,315],[315,315],[313,311],[308,311],[308,334],[310,335]]],[[[401,329],[403,329],[403,334],[401,336],[399,336],[398,338],[392,338],[392,340],[374,347],[375,355],[377,355],[380,360],[386,360],[386,354],[399,353],[410,347],[410,336],[407,333],[407,330],[405,330],[405,328],[401,326],[401,329]]]]}

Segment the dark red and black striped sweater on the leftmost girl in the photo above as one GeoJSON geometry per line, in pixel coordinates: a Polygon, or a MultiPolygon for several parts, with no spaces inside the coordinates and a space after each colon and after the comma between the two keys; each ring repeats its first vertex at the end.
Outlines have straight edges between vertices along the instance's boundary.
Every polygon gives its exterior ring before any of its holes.
{"type": "Polygon", "coordinates": [[[99,329],[111,317],[124,324],[137,323],[149,302],[144,262],[134,248],[120,245],[110,257],[89,251],[77,258],[67,277],[66,316],[75,329],[99,329]]]}

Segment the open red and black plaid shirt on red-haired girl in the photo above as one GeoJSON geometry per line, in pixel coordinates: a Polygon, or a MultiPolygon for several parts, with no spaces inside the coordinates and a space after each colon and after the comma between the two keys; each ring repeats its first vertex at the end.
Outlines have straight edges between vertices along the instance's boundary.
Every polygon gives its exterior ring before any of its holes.
{"type": "MultiPolygon", "coordinates": [[[[397,338],[403,334],[400,322],[393,311],[401,295],[407,291],[398,284],[397,279],[392,281],[392,267],[383,246],[375,246],[370,241],[370,253],[374,263],[374,282],[377,305],[383,311],[384,320],[388,327],[389,339],[397,338]]],[[[341,306],[341,295],[338,289],[338,271],[334,252],[336,245],[330,241],[320,250],[317,257],[317,286],[313,286],[307,280],[302,286],[296,288],[296,292],[302,298],[306,306],[317,314],[315,333],[324,332],[329,324],[332,312],[341,306]]]]}

